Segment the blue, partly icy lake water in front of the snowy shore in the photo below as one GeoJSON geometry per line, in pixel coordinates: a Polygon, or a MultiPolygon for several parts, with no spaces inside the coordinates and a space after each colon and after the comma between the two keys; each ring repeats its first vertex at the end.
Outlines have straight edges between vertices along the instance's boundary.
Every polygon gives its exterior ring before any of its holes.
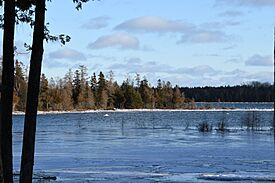
{"type": "MultiPolygon", "coordinates": [[[[273,105],[262,105],[39,115],[35,174],[56,176],[57,183],[274,181],[273,105]],[[229,131],[216,130],[222,121],[229,131]],[[199,132],[202,122],[213,130],[199,132]]],[[[16,171],[23,119],[14,116],[16,171]]]]}

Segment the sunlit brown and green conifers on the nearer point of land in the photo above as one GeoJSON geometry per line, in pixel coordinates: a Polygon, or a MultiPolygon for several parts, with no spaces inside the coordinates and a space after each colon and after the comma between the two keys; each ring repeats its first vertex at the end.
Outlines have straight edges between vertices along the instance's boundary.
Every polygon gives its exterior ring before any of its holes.
{"type": "MultiPolygon", "coordinates": [[[[27,74],[21,62],[15,64],[14,110],[24,111],[26,105],[27,74]]],[[[138,74],[126,78],[121,85],[110,71],[89,76],[87,68],[80,65],[69,70],[63,78],[40,80],[39,110],[89,110],[89,109],[178,109],[194,108],[194,100],[184,97],[179,87],[159,80],[152,87],[138,74]]]]}

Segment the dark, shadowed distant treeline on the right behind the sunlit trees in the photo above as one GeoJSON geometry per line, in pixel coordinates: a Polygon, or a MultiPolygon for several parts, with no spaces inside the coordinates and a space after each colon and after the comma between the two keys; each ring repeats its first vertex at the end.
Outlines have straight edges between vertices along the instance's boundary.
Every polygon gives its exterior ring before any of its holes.
{"type": "Polygon", "coordinates": [[[182,87],[180,91],[197,102],[272,102],[274,96],[273,85],[257,81],[237,86],[182,87]]]}

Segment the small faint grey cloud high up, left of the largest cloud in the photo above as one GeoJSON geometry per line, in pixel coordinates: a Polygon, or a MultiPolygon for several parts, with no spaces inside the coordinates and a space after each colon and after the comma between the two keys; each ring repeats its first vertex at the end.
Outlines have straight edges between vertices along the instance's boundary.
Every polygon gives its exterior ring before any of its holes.
{"type": "Polygon", "coordinates": [[[110,17],[106,17],[106,16],[91,18],[88,22],[83,24],[81,27],[84,29],[102,29],[108,26],[109,20],[110,20],[110,17]]]}

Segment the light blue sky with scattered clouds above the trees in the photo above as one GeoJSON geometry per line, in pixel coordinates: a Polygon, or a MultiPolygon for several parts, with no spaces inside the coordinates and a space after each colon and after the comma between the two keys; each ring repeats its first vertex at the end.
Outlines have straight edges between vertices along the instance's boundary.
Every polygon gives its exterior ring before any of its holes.
{"type": "MultiPolygon", "coordinates": [[[[52,34],[71,41],[45,44],[43,73],[63,77],[79,65],[138,73],[180,86],[273,82],[275,0],[100,0],[77,11],[72,0],[47,3],[52,34]]],[[[16,27],[18,52],[31,42],[28,26],[16,27]]],[[[25,65],[28,54],[16,56],[25,65]]]]}

